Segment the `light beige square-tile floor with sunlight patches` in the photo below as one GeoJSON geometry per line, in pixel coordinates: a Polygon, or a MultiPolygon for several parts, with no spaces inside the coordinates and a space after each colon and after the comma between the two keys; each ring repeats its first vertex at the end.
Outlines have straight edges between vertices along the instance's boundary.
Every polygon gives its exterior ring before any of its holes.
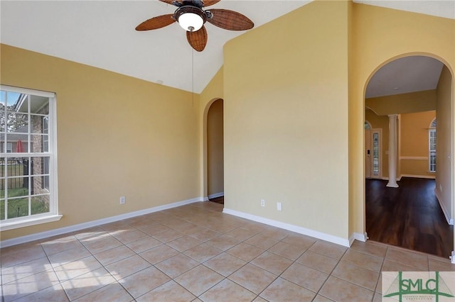
{"type": "Polygon", "coordinates": [[[376,242],[346,248],[193,203],[5,247],[2,301],[381,301],[382,271],[455,271],[376,242]]]}

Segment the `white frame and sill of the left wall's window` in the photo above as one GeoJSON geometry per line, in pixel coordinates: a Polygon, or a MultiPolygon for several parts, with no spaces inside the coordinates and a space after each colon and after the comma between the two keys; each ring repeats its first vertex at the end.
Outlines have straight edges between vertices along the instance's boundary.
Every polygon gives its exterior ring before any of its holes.
{"type": "MultiPolygon", "coordinates": [[[[57,175],[57,99],[55,93],[47,91],[39,91],[25,88],[18,88],[14,86],[0,85],[2,91],[11,91],[19,94],[31,94],[34,96],[43,96],[49,99],[49,152],[46,152],[46,155],[49,156],[49,208],[48,213],[36,214],[33,216],[23,216],[18,218],[11,218],[5,220],[0,220],[0,231],[4,230],[13,230],[15,228],[23,228],[31,225],[38,225],[41,223],[49,223],[52,221],[60,220],[63,215],[58,213],[58,175],[57,175]]],[[[5,129],[6,131],[6,129],[5,129]]],[[[27,150],[30,150],[29,148],[27,150]]],[[[1,157],[23,157],[26,155],[28,157],[40,157],[42,153],[3,153],[4,150],[1,150],[1,157]]],[[[6,206],[6,204],[5,204],[6,206]]]]}

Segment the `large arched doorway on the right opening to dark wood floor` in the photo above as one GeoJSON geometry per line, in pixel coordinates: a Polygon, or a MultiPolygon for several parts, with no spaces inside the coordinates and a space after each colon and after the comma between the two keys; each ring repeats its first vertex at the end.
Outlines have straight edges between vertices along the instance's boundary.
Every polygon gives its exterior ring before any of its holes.
{"type": "Polygon", "coordinates": [[[441,257],[454,250],[453,165],[444,156],[451,156],[454,143],[451,82],[443,62],[422,55],[390,60],[370,78],[365,119],[384,136],[383,179],[365,179],[365,229],[370,240],[441,257]],[[438,132],[436,151],[429,140],[435,118],[438,123],[442,118],[445,129],[438,132]],[[432,171],[432,160],[441,169],[432,171]],[[392,177],[397,187],[388,187],[392,177]]]}

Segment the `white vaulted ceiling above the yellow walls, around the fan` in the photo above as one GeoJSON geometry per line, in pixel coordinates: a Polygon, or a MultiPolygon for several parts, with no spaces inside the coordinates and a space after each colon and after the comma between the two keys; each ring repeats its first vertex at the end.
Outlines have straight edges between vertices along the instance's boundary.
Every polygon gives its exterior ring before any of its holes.
{"type": "MultiPolygon", "coordinates": [[[[257,28],[309,2],[311,1],[223,0],[208,9],[238,11],[249,17],[257,28]]],[[[453,0],[355,2],[455,19],[453,0]]],[[[186,33],[177,23],[159,30],[134,30],[142,21],[173,13],[175,9],[175,6],[158,0],[1,0],[0,42],[199,93],[223,65],[223,45],[244,32],[223,30],[206,23],[207,46],[203,52],[193,52],[186,41],[186,33]]],[[[389,65],[383,67],[384,70],[381,69],[379,82],[382,86],[375,87],[375,96],[384,93],[378,92],[378,89],[385,89],[384,79],[393,83],[392,88],[397,87],[397,82],[393,81],[399,74],[397,68],[406,69],[410,65],[395,66],[389,72],[387,66],[389,65]]],[[[428,65],[424,67],[427,68],[428,65]]],[[[433,69],[437,69],[437,66],[433,69]]],[[[428,78],[421,81],[434,83],[436,76],[425,70],[423,74],[428,78]]],[[[416,72],[422,70],[414,68],[412,74],[416,72]]],[[[399,86],[404,89],[405,84],[399,86]]]]}

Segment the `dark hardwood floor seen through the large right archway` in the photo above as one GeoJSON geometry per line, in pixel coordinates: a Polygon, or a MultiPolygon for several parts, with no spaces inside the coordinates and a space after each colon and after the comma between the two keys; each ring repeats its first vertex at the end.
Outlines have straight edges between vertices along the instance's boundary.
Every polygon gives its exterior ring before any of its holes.
{"type": "Polygon", "coordinates": [[[403,177],[399,188],[366,179],[366,232],[370,240],[449,257],[454,226],[449,225],[434,193],[434,179],[403,177]]]}

